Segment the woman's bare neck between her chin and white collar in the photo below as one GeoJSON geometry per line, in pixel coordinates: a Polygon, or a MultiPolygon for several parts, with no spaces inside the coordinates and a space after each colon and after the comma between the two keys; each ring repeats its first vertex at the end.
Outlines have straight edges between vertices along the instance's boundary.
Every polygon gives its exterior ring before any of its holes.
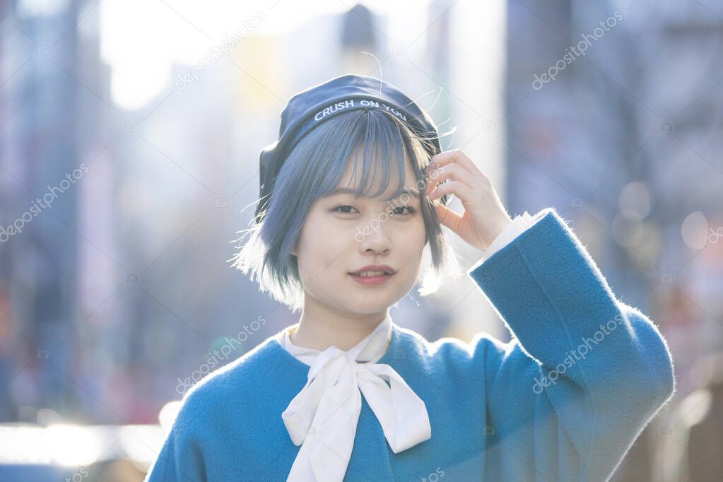
{"type": "Polygon", "coordinates": [[[313,309],[308,304],[301,311],[299,327],[291,333],[296,346],[323,351],[330,346],[348,351],[364,340],[387,317],[388,312],[374,314],[339,314],[313,309]]]}

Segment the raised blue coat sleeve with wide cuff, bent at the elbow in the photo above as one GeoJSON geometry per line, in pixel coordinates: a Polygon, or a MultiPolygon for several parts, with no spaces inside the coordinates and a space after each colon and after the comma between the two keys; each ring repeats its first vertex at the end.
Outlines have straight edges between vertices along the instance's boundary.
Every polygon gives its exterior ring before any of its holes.
{"type": "Polygon", "coordinates": [[[484,338],[486,480],[605,481],[675,391],[663,337],[554,209],[469,275],[512,340],[484,338]]]}

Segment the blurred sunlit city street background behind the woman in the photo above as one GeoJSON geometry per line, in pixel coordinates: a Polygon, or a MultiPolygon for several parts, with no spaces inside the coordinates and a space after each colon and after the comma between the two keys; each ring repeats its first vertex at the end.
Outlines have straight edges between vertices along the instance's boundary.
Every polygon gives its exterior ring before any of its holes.
{"type": "MultiPolygon", "coordinates": [[[[723,481],[722,2],[0,4],[0,481],[142,480],[185,390],[298,321],[228,260],[286,101],[347,73],[659,325],[677,394],[612,480],[723,481]]],[[[466,277],[391,314],[510,338],[466,277]]]]}

